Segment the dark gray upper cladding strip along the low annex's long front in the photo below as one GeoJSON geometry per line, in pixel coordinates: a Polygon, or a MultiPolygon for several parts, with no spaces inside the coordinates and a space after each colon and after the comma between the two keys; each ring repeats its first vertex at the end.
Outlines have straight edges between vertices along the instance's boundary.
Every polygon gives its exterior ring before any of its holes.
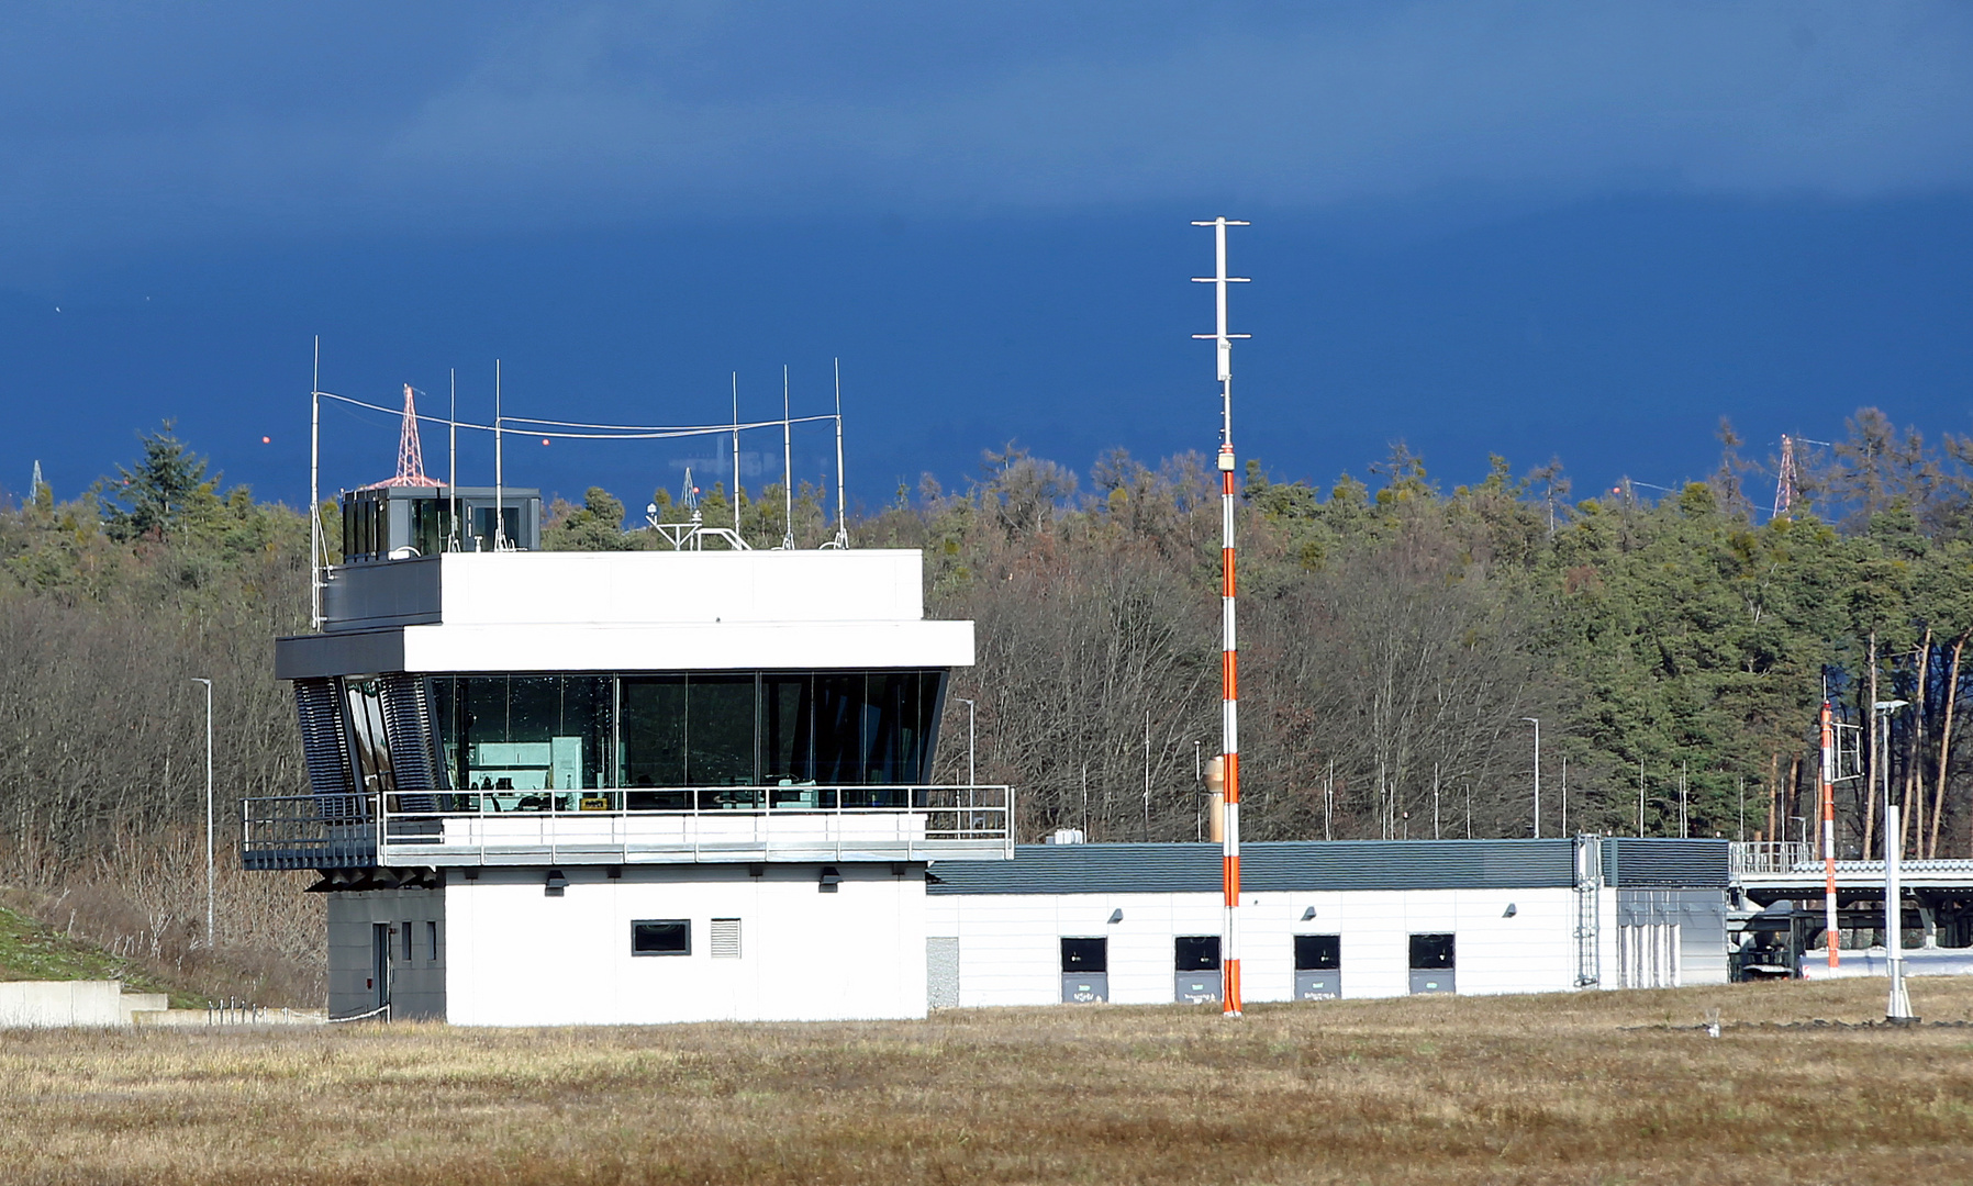
{"type": "MultiPolygon", "coordinates": [[[[935,864],[927,894],[1180,894],[1219,890],[1217,845],[1020,845],[1014,860],[935,864]]],[[[1574,884],[1572,841],[1261,841],[1241,888],[1517,890],[1574,884]]]]}

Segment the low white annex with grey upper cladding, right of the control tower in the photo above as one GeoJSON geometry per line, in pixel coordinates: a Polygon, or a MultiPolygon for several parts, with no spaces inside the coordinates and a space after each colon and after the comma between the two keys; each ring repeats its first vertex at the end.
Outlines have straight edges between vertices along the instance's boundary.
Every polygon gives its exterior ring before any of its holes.
{"type": "MultiPolygon", "coordinates": [[[[933,1004],[1219,997],[1215,845],[935,864],[933,1004]]],[[[1241,845],[1247,1001],[1724,983],[1722,841],[1241,845]]]]}

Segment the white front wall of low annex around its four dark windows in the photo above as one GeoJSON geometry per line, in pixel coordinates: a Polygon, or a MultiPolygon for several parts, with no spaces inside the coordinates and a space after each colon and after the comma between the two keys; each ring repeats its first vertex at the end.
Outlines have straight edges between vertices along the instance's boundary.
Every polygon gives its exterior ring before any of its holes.
{"type": "MultiPolygon", "coordinates": [[[[1251,894],[1241,906],[1247,1001],[1294,997],[1294,935],[1342,935],[1344,997],[1411,991],[1411,935],[1450,931],[1460,993],[1574,987],[1574,890],[1375,890],[1251,894]],[[1505,918],[1513,904],[1515,916],[1505,918]],[[1302,920],[1308,908],[1312,920],[1302,920]]],[[[1219,933],[1219,894],[935,894],[927,933],[959,939],[959,1002],[1061,999],[1060,937],[1109,937],[1115,1004],[1164,1004],[1172,939],[1219,933]],[[1123,920],[1111,924],[1115,910],[1123,920]]]]}

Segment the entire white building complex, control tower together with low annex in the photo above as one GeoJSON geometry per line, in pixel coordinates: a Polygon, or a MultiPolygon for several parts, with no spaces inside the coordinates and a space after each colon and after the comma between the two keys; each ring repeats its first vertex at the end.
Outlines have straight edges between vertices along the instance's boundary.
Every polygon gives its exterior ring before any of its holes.
{"type": "MultiPolygon", "coordinates": [[[[329,1010],[456,1024],[915,1018],[1219,993],[1211,845],[1014,849],[929,785],[971,622],[915,551],[537,553],[533,491],[345,495],[324,630],[280,639],[329,1010]],[[515,505],[505,505],[513,501],[515,505]],[[519,549],[483,551],[503,535],[519,549]],[[406,543],[408,541],[408,543],[406,543]],[[395,556],[395,558],[393,558],[395,556]]],[[[1726,979],[1709,841],[1247,845],[1249,1001],[1726,979]]]]}

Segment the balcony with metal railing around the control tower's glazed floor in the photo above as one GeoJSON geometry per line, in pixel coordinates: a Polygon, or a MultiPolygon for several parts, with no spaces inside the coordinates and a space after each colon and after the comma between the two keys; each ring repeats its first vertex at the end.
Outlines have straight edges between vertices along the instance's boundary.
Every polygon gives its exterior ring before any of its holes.
{"type": "Polygon", "coordinates": [[[282,795],[243,803],[243,837],[249,868],[1014,854],[1004,785],[282,795]]]}

